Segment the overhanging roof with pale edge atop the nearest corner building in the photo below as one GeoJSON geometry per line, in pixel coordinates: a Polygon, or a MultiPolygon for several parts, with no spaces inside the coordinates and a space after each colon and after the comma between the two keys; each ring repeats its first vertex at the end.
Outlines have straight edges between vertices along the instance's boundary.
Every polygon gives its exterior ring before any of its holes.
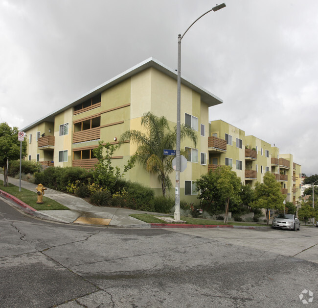
{"type": "MultiPolygon", "coordinates": [[[[142,72],[150,67],[153,67],[153,68],[157,69],[158,71],[164,73],[165,75],[177,80],[178,75],[177,75],[177,72],[175,70],[172,70],[171,68],[165,66],[163,63],[161,63],[157,59],[150,57],[150,58],[140,62],[136,66],[133,66],[132,68],[126,70],[125,72],[123,72],[123,73],[109,79],[108,81],[102,83],[101,85],[93,88],[91,91],[87,92],[86,94],[84,94],[84,96],[80,97],[79,99],[75,100],[74,102],[69,103],[65,107],[62,107],[58,110],[55,110],[55,111],[47,114],[46,116],[40,118],[39,120],[31,123],[28,126],[22,128],[21,130],[30,129],[30,128],[32,128],[32,127],[34,127],[42,122],[45,122],[45,121],[54,122],[54,117],[57,114],[69,109],[70,107],[76,106],[79,103],[85,102],[86,100],[90,99],[91,97],[93,97],[101,92],[104,92],[105,90],[107,90],[107,89],[113,87],[114,85],[124,81],[125,79],[132,77],[132,76],[138,74],[139,72],[142,72]]],[[[221,100],[220,98],[218,98],[214,94],[208,92],[203,87],[191,82],[189,79],[187,79],[185,77],[181,77],[181,83],[184,84],[185,86],[187,86],[188,88],[198,92],[201,95],[201,100],[204,103],[208,104],[209,107],[223,103],[223,100],[221,100]]]]}

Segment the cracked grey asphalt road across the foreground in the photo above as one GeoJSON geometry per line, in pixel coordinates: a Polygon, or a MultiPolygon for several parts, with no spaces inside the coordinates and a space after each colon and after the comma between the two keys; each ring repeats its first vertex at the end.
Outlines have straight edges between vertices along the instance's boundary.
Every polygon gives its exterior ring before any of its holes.
{"type": "Polygon", "coordinates": [[[318,228],[106,229],[1,199],[0,222],[1,308],[318,306],[318,228]]]}

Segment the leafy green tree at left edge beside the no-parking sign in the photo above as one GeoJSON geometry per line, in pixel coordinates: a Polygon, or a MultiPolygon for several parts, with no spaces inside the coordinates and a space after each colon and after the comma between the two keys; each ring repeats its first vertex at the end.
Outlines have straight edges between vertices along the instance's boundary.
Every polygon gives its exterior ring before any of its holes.
{"type": "MultiPolygon", "coordinates": [[[[6,122],[0,124],[0,167],[4,169],[3,186],[8,186],[9,160],[20,158],[19,129],[11,128],[6,122]]],[[[22,142],[22,155],[26,155],[26,141],[22,142]]]]}

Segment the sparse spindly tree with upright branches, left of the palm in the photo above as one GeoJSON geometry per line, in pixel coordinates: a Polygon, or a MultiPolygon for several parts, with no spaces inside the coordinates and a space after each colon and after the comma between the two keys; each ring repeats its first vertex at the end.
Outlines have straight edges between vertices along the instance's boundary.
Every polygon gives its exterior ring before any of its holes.
{"type": "Polygon", "coordinates": [[[113,193],[116,181],[134,167],[136,160],[135,155],[131,156],[121,173],[118,166],[112,166],[112,156],[117,147],[118,146],[111,145],[110,143],[103,144],[103,141],[99,141],[98,147],[93,149],[93,154],[98,159],[98,163],[93,170],[93,179],[96,184],[107,187],[113,193]]]}

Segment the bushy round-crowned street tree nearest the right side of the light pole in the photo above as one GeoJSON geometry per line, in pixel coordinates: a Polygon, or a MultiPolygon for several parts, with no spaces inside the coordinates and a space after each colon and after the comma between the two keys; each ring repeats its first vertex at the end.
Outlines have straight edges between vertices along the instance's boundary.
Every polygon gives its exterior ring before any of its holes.
{"type": "Polygon", "coordinates": [[[228,222],[229,202],[241,202],[240,192],[242,190],[241,179],[236,175],[230,166],[218,167],[215,171],[201,176],[196,181],[197,190],[201,191],[198,196],[201,204],[211,206],[225,205],[225,219],[228,222]]]}

